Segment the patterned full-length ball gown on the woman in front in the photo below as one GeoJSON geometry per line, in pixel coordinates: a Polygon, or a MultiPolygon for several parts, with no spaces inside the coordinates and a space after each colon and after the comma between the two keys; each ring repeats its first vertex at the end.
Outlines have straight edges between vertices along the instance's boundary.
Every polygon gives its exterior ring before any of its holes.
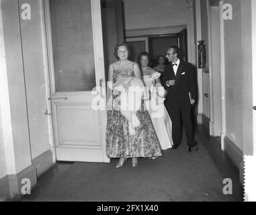
{"type": "MultiPolygon", "coordinates": [[[[114,67],[114,65],[113,65],[114,67]]],[[[126,71],[113,69],[113,83],[122,77],[135,77],[134,64],[126,71]]],[[[120,95],[112,95],[112,101],[120,95]]],[[[143,102],[143,101],[142,101],[143,102]]],[[[128,120],[120,110],[108,110],[106,128],[106,153],[110,158],[159,157],[161,146],[147,110],[141,105],[136,112],[140,126],[135,128],[136,135],[129,134],[128,120]]]]}

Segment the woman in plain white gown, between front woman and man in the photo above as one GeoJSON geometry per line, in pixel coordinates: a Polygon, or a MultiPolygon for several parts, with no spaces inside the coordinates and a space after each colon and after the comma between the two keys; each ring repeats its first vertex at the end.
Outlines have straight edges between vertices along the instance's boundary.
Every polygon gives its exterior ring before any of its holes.
{"type": "Polygon", "coordinates": [[[151,115],[151,120],[153,122],[155,131],[157,132],[157,137],[161,144],[161,148],[162,150],[166,150],[167,148],[172,148],[173,146],[173,138],[171,134],[171,118],[169,117],[169,114],[164,105],[165,99],[163,93],[161,97],[159,96],[160,93],[158,93],[158,87],[162,88],[164,91],[159,79],[161,73],[158,73],[155,69],[148,67],[149,58],[150,56],[147,52],[140,52],[138,55],[138,63],[140,64],[140,68],[142,70],[144,83],[146,87],[148,87],[148,89],[151,91],[151,103],[147,107],[148,112],[151,115]],[[157,109],[154,108],[154,104],[158,105],[157,109]]]}

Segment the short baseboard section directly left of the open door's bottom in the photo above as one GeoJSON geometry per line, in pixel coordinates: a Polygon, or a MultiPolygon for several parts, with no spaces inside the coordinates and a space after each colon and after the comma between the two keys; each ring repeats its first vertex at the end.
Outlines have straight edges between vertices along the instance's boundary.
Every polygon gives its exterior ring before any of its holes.
{"type": "Polygon", "coordinates": [[[42,173],[46,172],[53,165],[52,151],[47,150],[46,152],[33,159],[32,165],[36,168],[37,177],[40,177],[42,173]]]}

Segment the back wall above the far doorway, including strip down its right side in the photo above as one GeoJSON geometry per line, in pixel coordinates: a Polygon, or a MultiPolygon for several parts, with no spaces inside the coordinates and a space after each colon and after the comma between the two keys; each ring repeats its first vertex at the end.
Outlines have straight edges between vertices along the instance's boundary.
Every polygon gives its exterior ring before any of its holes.
{"type": "Polygon", "coordinates": [[[187,26],[188,61],[196,64],[193,0],[124,0],[124,19],[125,30],[187,26]]]}

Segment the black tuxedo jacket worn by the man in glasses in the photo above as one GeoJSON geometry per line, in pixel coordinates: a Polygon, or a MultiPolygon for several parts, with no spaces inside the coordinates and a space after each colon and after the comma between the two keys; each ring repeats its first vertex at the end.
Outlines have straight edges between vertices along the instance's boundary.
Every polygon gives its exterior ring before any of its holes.
{"type": "Polygon", "coordinates": [[[193,67],[189,62],[179,62],[179,67],[175,75],[172,63],[165,67],[163,77],[163,87],[168,91],[165,100],[166,105],[190,105],[189,92],[191,99],[196,99],[196,87],[193,76],[193,67]],[[168,87],[166,81],[175,80],[175,85],[168,87]]]}

